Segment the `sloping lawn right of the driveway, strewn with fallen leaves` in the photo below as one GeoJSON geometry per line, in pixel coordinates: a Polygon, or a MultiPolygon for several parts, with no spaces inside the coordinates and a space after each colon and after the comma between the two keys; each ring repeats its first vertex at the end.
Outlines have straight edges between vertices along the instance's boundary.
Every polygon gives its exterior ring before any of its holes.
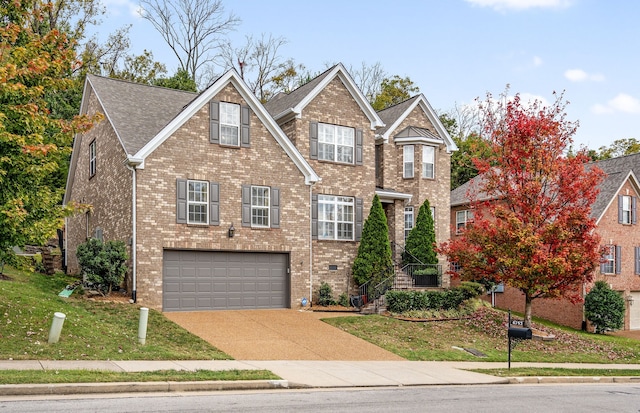
{"type": "MultiPolygon", "coordinates": [[[[371,315],[326,319],[325,322],[396,353],[408,360],[506,361],[507,314],[482,307],[472,317],[456,321],[411,322],[371,315]],[[479,358],[462,349],[484,353],[479,358]]],[[[640,341],[534,323],[554,341],[517,343],[511,361],[559,363],[640,363],[640,341]]]]}

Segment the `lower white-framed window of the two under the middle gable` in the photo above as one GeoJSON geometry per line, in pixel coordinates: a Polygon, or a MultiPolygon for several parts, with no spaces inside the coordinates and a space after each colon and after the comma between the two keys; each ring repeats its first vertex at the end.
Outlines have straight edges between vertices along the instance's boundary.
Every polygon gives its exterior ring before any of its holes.
{"type": "Polygon", "coordinates": [[[318,195],[318,237],[326,240],[354,239],[354,198],[318,195]]]}

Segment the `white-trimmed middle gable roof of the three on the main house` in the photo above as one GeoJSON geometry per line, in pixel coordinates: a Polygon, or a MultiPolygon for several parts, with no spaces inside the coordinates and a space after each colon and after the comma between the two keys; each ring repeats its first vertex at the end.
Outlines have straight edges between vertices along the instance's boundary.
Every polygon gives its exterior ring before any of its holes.
{"type": "Polygon", "coordinates": [[[293,117],[299,118],[304,108],[335,78],[340,79],[351,96],[353,96],[358,106],[360,106],[360,109],[362,109],[371,122],[372,130],[384,126],[384,123],[376,111],[373,110],[342,63],[338,63],[327,69],[311,81],[288,94],[277,95],[265,104],[265,108],[276,121],[288,120],[293,117]]]}

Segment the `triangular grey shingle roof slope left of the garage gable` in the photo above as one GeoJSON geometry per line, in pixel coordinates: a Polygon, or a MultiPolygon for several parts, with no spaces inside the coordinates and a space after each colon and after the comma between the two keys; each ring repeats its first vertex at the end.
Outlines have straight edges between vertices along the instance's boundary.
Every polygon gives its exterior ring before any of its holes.
{"type": "Polygon", "coordinates": [[[129,155],[140,150],[198,96],[95,75],[87,79],[129,155]]]}

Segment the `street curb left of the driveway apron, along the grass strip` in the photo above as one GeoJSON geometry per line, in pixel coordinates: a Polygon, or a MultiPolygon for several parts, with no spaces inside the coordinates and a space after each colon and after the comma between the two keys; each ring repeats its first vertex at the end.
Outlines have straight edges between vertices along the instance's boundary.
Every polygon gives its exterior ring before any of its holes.
{"type": "Polygon", "coordinates": [[[287,380],[164,381],[122,383],[3,384],[0,396],[42,396],[100,393],[270,390],[289,388],[287,380]]]}

